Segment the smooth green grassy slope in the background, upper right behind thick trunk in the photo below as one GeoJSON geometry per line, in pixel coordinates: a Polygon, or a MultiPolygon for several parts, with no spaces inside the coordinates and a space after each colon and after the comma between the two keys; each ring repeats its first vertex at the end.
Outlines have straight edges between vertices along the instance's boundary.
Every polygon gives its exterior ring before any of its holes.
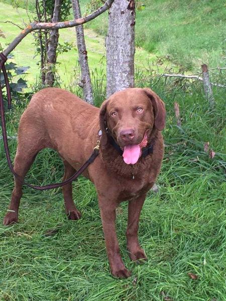
{"type": "MultiPolygon", "coordinates": [[[[84,0],[82,3],[88,3],[84,0]]],[[[138,3],[142,3],[139,1],[138,3]]],[[[225,64],[224,0],[146,0],[136,12],[136,45],[171,63],[200,70],[225,64]]],[[[107,13],[86,25],[107,32],[107,13]]]]}

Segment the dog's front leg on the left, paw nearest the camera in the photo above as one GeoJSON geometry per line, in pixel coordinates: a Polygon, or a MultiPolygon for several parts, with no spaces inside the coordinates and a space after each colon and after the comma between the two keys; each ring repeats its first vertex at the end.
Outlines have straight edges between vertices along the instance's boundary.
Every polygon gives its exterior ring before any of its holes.
{"type": "Polygon", "coordinates": [[[112,275],[119,278],[127,278],[131,275],[125,267],[120,255],[119,243],[116,235],[116,207],[111,201],[104,197],[98,197],[100,215],[102,220],[106,252],[112,275]]]}

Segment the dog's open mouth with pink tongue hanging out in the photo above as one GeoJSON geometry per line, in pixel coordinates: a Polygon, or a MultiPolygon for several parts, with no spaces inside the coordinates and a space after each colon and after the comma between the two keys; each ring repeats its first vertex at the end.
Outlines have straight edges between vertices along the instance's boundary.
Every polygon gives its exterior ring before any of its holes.
{"type": "Polygon", "coordinates": [[[136,164],[141,157],[142,148],[148,143],[148,131],[145,132],[144,138],[139,144],[128,144],[123,150],[123,160],[126,164],[136,164]]]}

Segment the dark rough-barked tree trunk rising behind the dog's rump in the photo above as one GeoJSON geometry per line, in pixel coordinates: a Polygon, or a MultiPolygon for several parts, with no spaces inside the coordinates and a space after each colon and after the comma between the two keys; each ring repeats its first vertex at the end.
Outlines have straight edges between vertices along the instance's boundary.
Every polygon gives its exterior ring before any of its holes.
{"type": "MultiPolygon", "coordinates": [[[[52,23],[60,21],[60,10],[61,10],[61,0],[55,0],[55,6],[53,11],[52,23]]],[[[59,39],[58,29],[53,29],[50,31],[48,51],[47,51],[47,66],[46,66],[46,80],[45,84],[48,86],[53,86],[55,81],[55,64],[56,64],[56,50],[59,39]]]]}

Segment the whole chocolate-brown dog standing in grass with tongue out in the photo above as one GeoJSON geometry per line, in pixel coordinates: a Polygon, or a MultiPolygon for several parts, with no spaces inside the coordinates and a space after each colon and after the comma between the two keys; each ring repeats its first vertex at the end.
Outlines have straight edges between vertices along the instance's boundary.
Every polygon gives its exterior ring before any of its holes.
{"type": "MultiPolygon", "coordinates": [[[[102,131],[100,155],[84,176],[96,187],[110,269],[117,277],[131,274],[120,256],[116,236],[116,208],[122,201],[129,201],[126,234],[130,258],[146,259],[138,242],[138,224],[146,194],[162,164],[165,115],[164,103],[150,89],[117,92],[99,109],[70,92],[47,88],[32,97],[21,117],[14,167],[22,178],[45,147],[55,149],[62,158],[64,180],[71,177],[89,158],[102,131]],[[147,148],[149,154],[143,154],[147,148]]],[[[63,195],[69,219],[79,219],[71,184],[63,187],[63,195]]],[[[15,179],[12,211],[4,219],[5,225],[18,221],[21,197],[22,185],[15,179]]]]}

